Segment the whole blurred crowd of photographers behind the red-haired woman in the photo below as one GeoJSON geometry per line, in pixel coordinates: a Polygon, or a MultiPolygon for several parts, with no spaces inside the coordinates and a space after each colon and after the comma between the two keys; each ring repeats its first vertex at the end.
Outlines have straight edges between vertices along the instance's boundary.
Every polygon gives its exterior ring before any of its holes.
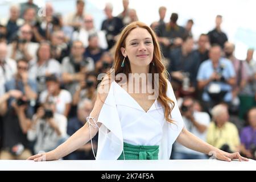
{"type": "MultiPolygon", "coordinates": [[[[85,123],[96,100],[97,76],[113,64],[113,45],[122,27],[138,20],[123,0],[113,16],[106,3],[101,30],[86,14],[85,2],[63,17],[46,3],[38,16],[33,1],[10,6],[9,19],[0,19],[0,159],[27,159],[50,151],[85,123]]],[[[151,28],[158,36],[163,61],[170,73],[185,127],[221,148],[256,156],[256,61],[254,49],[245,60],[234,56],[235,46],[221,30],[222,16],[208,34],[193,38],[193,20],[182,27],[178,14],[164,22],[166,7],[151,28]]],[[[97,150],[97,137],[93,139],[97,150]]],[[[207,156],[174,144],[172,159],[207,156]]],[[[85,144],[64,159],[94,159],[85,144]]]]}

